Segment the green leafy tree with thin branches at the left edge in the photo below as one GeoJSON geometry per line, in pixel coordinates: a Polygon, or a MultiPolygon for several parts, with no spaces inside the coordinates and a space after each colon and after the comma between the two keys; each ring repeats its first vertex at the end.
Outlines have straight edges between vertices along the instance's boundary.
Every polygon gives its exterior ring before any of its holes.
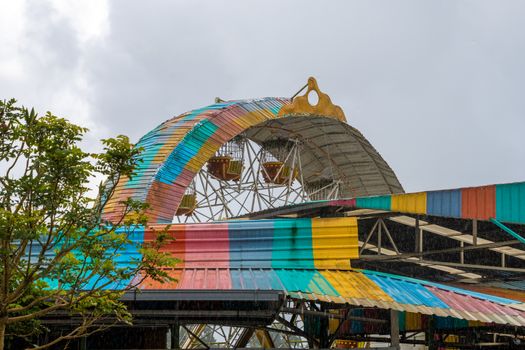
{"type": "MultiPolygon", "coordinates": [[[[102,153],[84,152],[87,129],[51,113],[0,102],[0,350],[6,337],[32,336],[57,313],[80,322],[45,348],[115,323],[130,323],[119,300],[141,278],[168,279],[162,266],[176,259],[133,239],[146,224],[147,205],[128,199],[119,222],[101,221],[119,178],[132,177],[140,149],[125,136],[102,140],[102,153]],[[106,181],[90,198],[94,177],[106,181]],[[126,250],[131,261],[119,260],[126,250]],[[137,278],[140,276],[140,278],[137,278]]],[[[129,260],[129,259],[128,259],[129,260]]]]}

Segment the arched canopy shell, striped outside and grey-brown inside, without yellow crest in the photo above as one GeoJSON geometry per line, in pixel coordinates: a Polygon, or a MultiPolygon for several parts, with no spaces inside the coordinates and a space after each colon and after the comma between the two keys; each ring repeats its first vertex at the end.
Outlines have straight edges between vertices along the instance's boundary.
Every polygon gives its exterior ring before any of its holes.
{"type": "Polygon", "coordinates": [[[137,143],[144,150],[142,162],[131,180],[119,181],[103,219],[117,222],[125,209],[122,203],[132,198],[149,203],[150,223],[172,222],[193,177],[221,145],[242,132],[258,143],[276,137],[277,131],[308,142],[305,155],[311,159],[303,162],[305,181],[318,180],[319,172],[333,166],[333,176],[345,184],[347,196],[403,192],[388,164],[358,130],[327,116],[280,116],[289,103],[274,97],[216,103],[159,125],[137,143]],[[327,133],[333,145],[326,144],[327,133]],[[326,152],[334,157],[322,156],[326,152]]]}

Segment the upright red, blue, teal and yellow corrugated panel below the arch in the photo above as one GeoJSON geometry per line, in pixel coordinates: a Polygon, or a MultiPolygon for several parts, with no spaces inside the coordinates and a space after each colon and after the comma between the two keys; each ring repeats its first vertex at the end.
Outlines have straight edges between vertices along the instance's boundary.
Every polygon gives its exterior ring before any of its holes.
{"type": "MultiPolygon", "coordinates": [[[[155,239],[155,227],[144,234],[155,239]]],[[[358,257],[355,218],[302,218],[174,224],[162,249],[184,267],[350,268],[358,257]]]]}

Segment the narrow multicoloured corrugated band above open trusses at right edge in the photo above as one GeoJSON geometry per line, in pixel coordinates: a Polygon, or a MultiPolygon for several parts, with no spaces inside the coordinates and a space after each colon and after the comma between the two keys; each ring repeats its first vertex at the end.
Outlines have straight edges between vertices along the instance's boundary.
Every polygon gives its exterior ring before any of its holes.
{"type": "Polygon", "coordinates": [[[525,224],[525,182],[355,198],[357,208],[525,224]]]}

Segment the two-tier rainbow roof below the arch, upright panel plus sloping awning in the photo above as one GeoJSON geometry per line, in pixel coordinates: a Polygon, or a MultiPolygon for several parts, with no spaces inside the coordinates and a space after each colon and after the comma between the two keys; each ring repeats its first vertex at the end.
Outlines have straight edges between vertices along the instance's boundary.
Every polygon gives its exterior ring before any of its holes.
{"type": "MultiPolygon", "coordinates": [[[[148,242],[161,226],[137,228],[135,242],[148,242]]],[[[167,272],[177,279],[160,284],[146,279],[143,290],[276,290],[302,300],[463,320],[525,326],[525,304],[380,272],[353,269],[358,256],[355,218],[274,219],[176,224],[175,240],[164,251],[183,262],[167,272]]],[[[125,248],[119,263],[140,258],[125,248]]],[[[122,281],[113,289],[141,281],[122,281]]]]}

